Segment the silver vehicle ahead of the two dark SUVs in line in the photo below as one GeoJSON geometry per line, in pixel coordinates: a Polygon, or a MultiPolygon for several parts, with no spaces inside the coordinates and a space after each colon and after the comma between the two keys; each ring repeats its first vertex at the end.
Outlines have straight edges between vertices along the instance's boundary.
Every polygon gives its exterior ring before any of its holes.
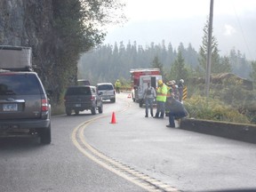
{"type": "Polygon", "coordinates": [[[116,91],[113,84],[97,84],[97,92],[100,94],[102,100],[111,100],[111,102],[116,102],[116,91]]]}

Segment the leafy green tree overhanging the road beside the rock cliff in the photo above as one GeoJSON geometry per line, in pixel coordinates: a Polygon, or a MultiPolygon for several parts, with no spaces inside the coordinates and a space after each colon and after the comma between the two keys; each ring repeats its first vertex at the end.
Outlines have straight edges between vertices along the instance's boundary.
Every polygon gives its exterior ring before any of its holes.
{"type": "MultiPolygon", "coordinates": [[[[117,22],[120,17],[112,14],[116,8],[123,8],[115,0],[54,0],[52,1],[52,27],[55,39],[52,52],[55,53],[54,72],[47,77],[55,86],[56,101],[68,84],[76,84],[77,62],[80,54],[101,44],[106,34],[100,27],[117,22]],[[116,20],[117,18],[117,20],[116,20]]],[[[122,18],[122,16],[121,16],[122,18]]]]}

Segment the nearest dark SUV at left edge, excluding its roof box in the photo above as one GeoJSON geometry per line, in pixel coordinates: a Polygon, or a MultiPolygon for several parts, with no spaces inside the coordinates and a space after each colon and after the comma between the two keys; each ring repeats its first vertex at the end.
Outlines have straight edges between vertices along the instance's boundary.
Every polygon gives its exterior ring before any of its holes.
{"type": "Polygon", "coordinates": [[[39,135],[51,143],[51,105],[36,72],[0,69],[0,136],[39,135]]]}

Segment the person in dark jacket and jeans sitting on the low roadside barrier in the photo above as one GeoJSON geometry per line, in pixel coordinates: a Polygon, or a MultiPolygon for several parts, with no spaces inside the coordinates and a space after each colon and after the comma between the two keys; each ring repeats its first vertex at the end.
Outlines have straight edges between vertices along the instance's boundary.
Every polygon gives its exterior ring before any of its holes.
{"type": "Polygon", "coordinates": [[[176,100],[174,97],[167,99],[168,110],[169,110],[169,124],[166,127],[175,127],[174,119],[180,119],[185,116],[188,116],[188,111],[184,108],[183,104],[176,100]]]}

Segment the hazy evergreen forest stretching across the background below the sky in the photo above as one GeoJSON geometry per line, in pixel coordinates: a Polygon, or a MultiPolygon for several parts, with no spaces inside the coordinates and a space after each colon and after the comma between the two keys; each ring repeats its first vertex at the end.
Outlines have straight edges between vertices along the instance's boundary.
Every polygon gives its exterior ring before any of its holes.
{"type": "MultiPolygon", "coordinates": [[[[251,61],[246,60],[243,53],[230,50],[229,55],[220,56],[218,46],[216,49],[215,53],[212,52],[212,73],[230,72],[250,79],[251,61]]],[[[102,44],[81,56],[78,78],[88,79],[92,84],[115,83],[116,79],[126,82],[130,80],[131,68],[160,68],[165,82],[178,78],[188,80],[189,76],[204,76],[205,55],[206,48],[203,46],[196,51],[192,44],[185,46],[180,43],[176,49],[171,43],[165,44],[164,40],[161,44],[151,43],[146,46],[136,42],[102,44]],[[183,76],[176,76],[177,71],[173,71],[175,62],[179,68],[183,65],[183,76]]]]}

